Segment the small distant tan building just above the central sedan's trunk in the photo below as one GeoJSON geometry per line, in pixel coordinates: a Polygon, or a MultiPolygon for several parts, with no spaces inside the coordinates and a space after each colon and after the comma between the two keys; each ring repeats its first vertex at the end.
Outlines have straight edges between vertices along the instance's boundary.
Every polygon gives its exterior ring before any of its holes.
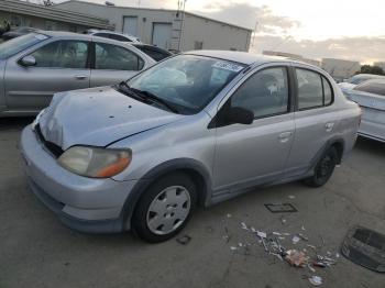
{"type": "Polygon", "coordinates": [[[361,64],[353,60],[343,60],[334,58],[322,58],[322,69],[331,75],[337,81],[343,81],[360,71],[361,64]]]}

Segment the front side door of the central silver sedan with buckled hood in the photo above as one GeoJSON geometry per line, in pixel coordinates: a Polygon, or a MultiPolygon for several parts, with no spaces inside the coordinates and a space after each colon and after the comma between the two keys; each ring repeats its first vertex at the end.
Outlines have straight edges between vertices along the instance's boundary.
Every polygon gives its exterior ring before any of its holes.
{"type": "Polygon", "coordinates": [[[253,74],[222,109],[229,107],[252,110],[255,119],[249,125],[217,126],[215,189],[237,190],[282,177],[295,133],[287,67],[253,74]]]}

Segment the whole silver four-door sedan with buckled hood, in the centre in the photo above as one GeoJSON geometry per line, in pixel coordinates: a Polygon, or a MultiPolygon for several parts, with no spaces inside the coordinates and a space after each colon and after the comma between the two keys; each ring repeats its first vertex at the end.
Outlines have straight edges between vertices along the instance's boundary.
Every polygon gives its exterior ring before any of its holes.
{"type": "Polygon", "coordinates": [[[55,95],[21,153],[32,191],[65,224],[160,242],[197,206],[256,186],[324,185],[360,115],[320,68],[198,51],[118,86],[55,95]]]}

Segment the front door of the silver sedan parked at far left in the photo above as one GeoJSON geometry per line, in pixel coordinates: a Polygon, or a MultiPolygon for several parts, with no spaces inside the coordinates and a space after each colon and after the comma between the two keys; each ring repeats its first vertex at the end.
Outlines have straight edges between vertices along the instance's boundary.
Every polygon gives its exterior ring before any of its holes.
{"type": "Polygon", "coordinates": [[[4,75],[9,110],[38,111],[50,104],[55,92],[88,88],[88,51],[87,41],[58,40],[11,58],[4,75]],[[34,66],[20,64],[28,55],[35,58],[34,66]]]}

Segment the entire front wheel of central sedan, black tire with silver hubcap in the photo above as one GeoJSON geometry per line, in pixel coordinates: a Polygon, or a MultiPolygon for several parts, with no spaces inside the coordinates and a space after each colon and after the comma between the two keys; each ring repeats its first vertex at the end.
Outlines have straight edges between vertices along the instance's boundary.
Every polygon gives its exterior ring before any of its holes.
{"type": "Polygon", "coordinates": [[[183,173],[155,180],[143,193],[132,218],[134,233],[150,243],[175,236],[191,218],[197,188],[183,173]]]}

